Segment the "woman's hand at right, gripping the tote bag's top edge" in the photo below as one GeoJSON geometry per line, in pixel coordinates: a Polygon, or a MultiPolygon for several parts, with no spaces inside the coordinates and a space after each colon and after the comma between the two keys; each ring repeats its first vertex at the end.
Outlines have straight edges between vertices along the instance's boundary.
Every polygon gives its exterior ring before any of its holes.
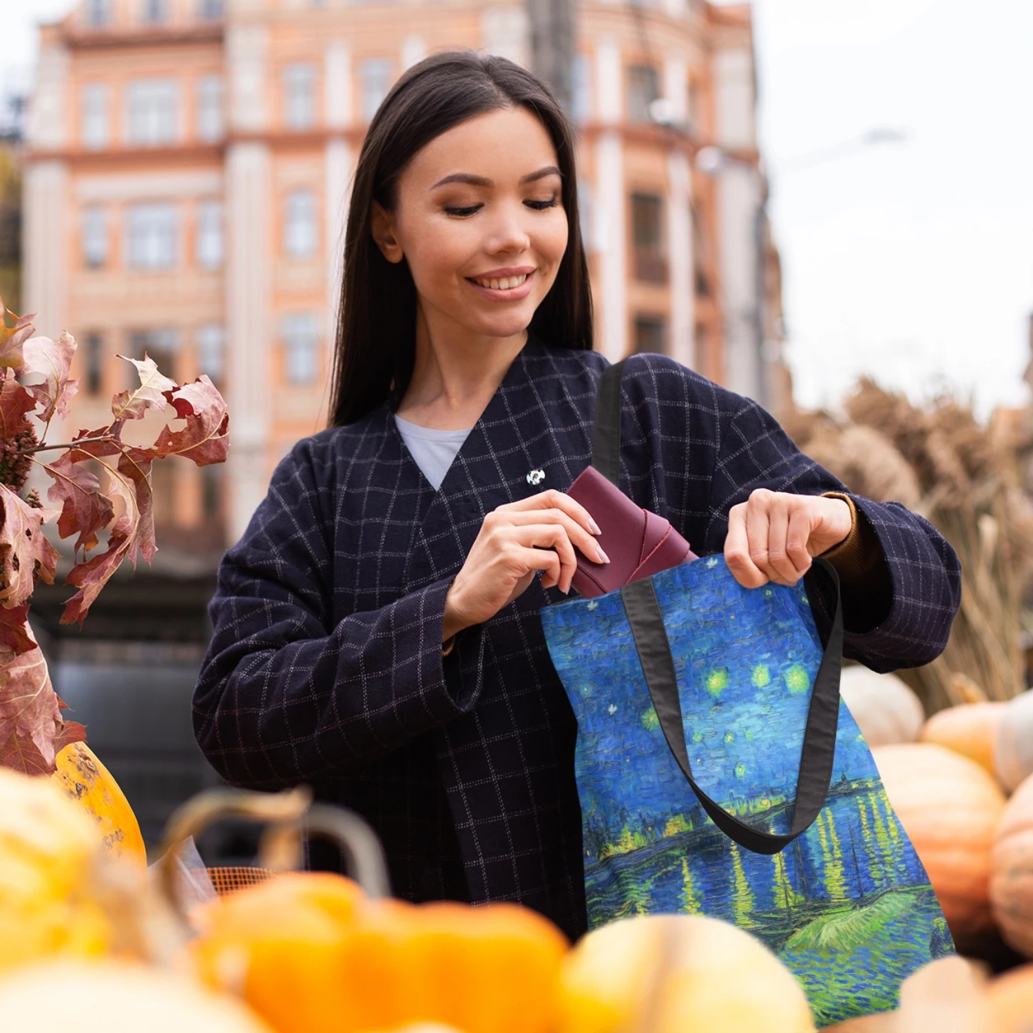
{"type": "Polygon", "coordinates": [[[842,499],[792,495],[758,488],[728,512],[724,558],[745,588],[795,585],[811,569],[811,558],[838,545],[851,528],[842,499]]]}

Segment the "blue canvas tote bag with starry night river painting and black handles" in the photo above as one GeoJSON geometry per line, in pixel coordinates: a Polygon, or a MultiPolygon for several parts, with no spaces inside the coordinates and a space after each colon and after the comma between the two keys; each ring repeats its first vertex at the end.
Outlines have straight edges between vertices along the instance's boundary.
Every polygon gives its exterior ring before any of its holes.
{"type": "MultiPolygon", "coordinates": [[[[615,484],[620,375],[603,376],[593,437],[615,484]]],[[[815,567],[836,585],[824,647],[805,584],[745,589],[720,556],[541,619],[577,718],[589,928],[731,921],[796,975],[821,1027],[896,1007],[953,945],[840,699],[838,580],[815,567]]]]}

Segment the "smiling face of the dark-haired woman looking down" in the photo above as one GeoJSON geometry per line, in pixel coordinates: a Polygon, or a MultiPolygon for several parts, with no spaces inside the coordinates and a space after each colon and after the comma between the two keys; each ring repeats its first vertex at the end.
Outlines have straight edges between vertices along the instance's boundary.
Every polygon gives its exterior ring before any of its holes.
{"type": "Polygon", "coordinates": [[[431,140],[399,179],[373,236],[404,257],[431,339],[522,335],[567,246],[556,149],[524,107],[468,119],[431,140]]]}

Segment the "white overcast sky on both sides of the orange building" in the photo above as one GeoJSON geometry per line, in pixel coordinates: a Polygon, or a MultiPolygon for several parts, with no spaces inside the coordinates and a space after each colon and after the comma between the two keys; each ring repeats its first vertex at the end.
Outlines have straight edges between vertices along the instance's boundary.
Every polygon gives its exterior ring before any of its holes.
{"type": "MultiPolygon", "coordinates": [[[[69,0],[0,0],[0,82],[69,0]]],[[[1022,404],[1033,310],[1033,4],[757,0],[760,132],[797,399],[860,372],[1022,404]],[[879,126],[906,144],[802,155],[879,126]]]]}

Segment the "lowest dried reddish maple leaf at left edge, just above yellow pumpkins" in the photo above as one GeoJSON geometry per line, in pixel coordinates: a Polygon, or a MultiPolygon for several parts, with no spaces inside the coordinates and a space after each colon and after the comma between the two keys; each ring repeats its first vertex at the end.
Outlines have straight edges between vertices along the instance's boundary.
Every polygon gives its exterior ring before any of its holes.
{"type": "Polygon", "coordinates": [[[68,743],[86,739],[86,729],[81,724],[61,720],[61,709],[38,646],[3,664],[0,766],[13,768],[26,775],[52,774],[58,752],[68,743]]]}

